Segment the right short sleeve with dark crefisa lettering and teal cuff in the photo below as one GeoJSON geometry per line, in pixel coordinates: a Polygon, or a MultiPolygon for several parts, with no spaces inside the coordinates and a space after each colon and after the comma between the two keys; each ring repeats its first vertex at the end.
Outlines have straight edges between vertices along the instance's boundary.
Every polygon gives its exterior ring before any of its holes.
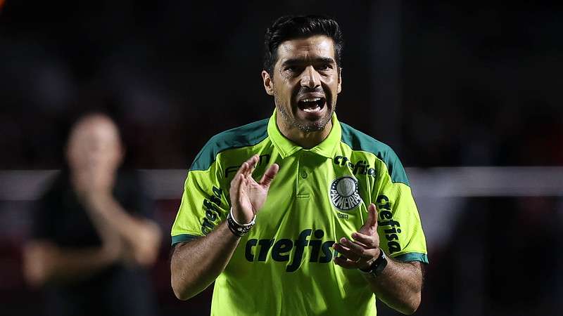
{"type": "Polygon", "coordinates": [[[426,239],[409,181],[397,157],[382,162],[375,204],[381,249],[398,261],[428,263],[426,239]],[[392,172],[391,172],[392,171],[392,172]]]}

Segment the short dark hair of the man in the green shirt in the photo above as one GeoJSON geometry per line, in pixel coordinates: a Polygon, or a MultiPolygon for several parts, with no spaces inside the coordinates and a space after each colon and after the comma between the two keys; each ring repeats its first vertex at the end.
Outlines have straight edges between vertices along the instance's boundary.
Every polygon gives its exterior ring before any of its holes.
{"type": "Polygon", "coordinates": [[[285,15],[277,19],[266,29],[264,46],[264,69],[272,74],[277,61],[279,44],[290,39],[326,35],[334,41],[334,57],[336,65],[341,67],[342,47],[344,40],[339,24],[324,15],[285,15]]]}

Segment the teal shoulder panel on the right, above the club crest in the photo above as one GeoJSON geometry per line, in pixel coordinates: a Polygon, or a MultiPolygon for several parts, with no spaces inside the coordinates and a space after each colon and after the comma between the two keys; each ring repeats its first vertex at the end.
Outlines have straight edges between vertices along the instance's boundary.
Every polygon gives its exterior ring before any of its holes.
{"type": "Polygon", "coordinates": [[[352,150],[362,150],[364,152],[371,152],[381,159],[386,165],[391,181],[393,183],[405,183],[410,186],[407,173],[400,163],[397,154],[388,145],[381,143],[379,140],[372,138],[354,129],[348,124],[341,122],[342,126],[342,142],[350,146],[352,150]]]}

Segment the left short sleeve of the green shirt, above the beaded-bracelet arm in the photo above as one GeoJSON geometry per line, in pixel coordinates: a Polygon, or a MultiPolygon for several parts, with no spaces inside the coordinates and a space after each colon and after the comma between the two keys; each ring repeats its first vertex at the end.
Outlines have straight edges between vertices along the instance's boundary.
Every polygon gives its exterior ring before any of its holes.
{"type": "Polygon", "coordinates": [[[227,218],[228,188],[222,185],[221,173],[216,161],[206,170],[188,172],[182,202],[172,225],[172,245],[207,235],[227,218]]]}

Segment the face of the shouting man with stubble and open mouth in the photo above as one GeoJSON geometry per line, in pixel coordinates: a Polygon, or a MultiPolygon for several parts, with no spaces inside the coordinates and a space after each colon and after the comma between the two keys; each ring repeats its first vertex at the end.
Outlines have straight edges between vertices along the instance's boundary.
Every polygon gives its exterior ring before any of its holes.
{"type": "Polygon", "coordinates": [[[324,35],[284,41],[272,72],[262,72],[262,79],[284,124],[304,132],[324,129],[341,91],[334,41],[324,35]]]}

